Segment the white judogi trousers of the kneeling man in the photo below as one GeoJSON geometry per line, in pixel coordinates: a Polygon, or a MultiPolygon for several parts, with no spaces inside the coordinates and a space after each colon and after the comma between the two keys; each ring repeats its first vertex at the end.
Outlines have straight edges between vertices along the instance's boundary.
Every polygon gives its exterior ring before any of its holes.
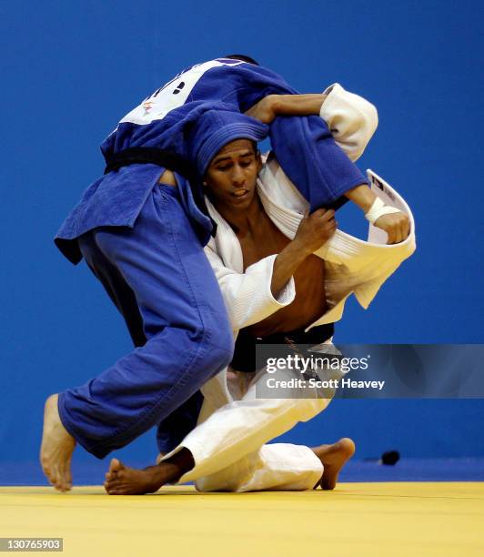
{"type": "Polygon", "coordinates": [[[312,489],[324,470],[313,451],[290,443],[265,443],[291,430],[298,421],[314,418],[330,399],[257,399],[255,380],[241,400],[234,400],[237,386],[232,385],[228,392],[224,375],[207,384],[211,397],[204,401],[197,428],[162,461],[188,449],[195,467],[179,483],[195,481],[198,491],[312,489]],[[231,400],[218,408],[217,388],[220,402],[226,397],[231,400]]]}

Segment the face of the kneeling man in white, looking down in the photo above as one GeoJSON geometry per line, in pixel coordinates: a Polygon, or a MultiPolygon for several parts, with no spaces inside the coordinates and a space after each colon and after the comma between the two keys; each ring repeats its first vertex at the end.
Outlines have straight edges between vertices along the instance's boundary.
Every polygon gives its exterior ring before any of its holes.
{"type": "Polygon", "coordinates": [[[212,159],[204,182],[215,207],[246,209],[254,198],[261,167],[252,141],[237,139],[222,147],[212,159]]]}

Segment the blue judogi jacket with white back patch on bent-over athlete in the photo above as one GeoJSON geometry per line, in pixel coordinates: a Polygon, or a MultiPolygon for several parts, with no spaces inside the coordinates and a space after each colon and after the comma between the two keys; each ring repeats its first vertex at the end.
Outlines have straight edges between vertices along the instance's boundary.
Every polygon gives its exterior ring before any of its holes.
{"type": "MultiPolygon", "coordinates": [[[[119,122],[101,151],[107,159],[130,147],[157,147],[189,160],[187,134],[197,117],[217,102],[244,112],[269,94],[296,93],[281,76],[264,67],[224,58],[211,60],[184,70],[148,96],[119,122]]],[[[281,167],[312,210],[328,206],[367,181],[318,116],[277,117],[269,137],[281,167]]],[[[76,238],[97,227],[133,227],[163,171],[153,164],[132,164],[98,178],[59,229],[57,247],[76,264],[82,258],[76,238]]],[[[205,245],[212,222],[197,207],[187,180],[176,177],[182,204],[205,245]]]]}

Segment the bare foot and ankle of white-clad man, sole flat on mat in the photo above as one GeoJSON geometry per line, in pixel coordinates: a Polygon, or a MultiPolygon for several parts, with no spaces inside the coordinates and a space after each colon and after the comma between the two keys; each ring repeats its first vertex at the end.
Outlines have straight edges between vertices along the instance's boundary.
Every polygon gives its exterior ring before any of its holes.
{"type": "Polygon", "coordinates": [[[165,483],[177,481],[194,466],[192,453],[187,449],[182,449],[167,461],[148,466],[144,470],[129,468],[117,459],[112,459],[106,473],[105,489],[109,495],[154,493],[165,483]]]}

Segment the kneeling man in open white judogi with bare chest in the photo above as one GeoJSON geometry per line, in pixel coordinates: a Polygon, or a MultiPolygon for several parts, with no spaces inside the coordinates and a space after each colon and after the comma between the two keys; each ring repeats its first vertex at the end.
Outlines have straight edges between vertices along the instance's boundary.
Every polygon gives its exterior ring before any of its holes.
{"type": "MultiPolygon", "coordinates": [[[[341,87],[333,90],[335,101],[338,95],[344,98],[341,87]]],[[[196,137],[205,139],[195,139],[194,152],[200,174],[206,176],[208,210],[217,223],[217,235],[206,253],[234,336],[244,329],[253,337],[291,338],[295,331],[287,328],[289,323],[297,329],[298,342],[330,342],[324,337],[325,327],[341,319],[348,297],[354,293],[367,309],[385,280],[415,250],[415,225],[407,203],[368,171],[373,192],[366,215],[368,241],[337,230],[333,211],[320,209],[307,217],[308,202],[277,160],[269,156],[263,165],[259,162],[246,116],[213,112],[197,125],[196,137]],[[401,219],[398,243],[385,243],[386,233],[373,226],[385,216],[401,219]]],[[[357,147],[347,148],[353,158],[373,130],[365,137],[363,128],[353,145],[357,147]]],[[[174,187],[165,190],[176,195],[174,187]]],[[[170,481],[195,481],[200,491],[306,490],[318,482],[334,488],[338,471],[354,451],[352,441],[314,450],[265,444],[298,421],[316,416],[330,399],[257,399],[259,376],[249,377],[253,381],[247,389],[227,381],[227,370],[209,380],[202,389],[205,400],[197,428],[159,465],[144,471],[114,459],[106,474],[106,491],[152,492],[170,481]]]]}

